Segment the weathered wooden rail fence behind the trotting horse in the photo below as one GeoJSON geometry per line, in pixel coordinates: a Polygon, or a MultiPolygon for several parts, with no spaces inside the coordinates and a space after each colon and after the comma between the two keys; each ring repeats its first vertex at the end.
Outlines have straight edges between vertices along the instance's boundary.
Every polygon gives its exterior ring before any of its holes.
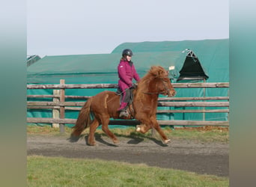
{"type": "MultiPolygon", "coordinates": [[[[174,88],[229,88],[228,82],[216,83],[173,83],[174,88]]],[[[27,85],[27,89],[53,89],[52,95],[28,95],[28,98],[52,98],[52,102],[28,101],[28,109],[52,109],[52,118],[27,117],[28,123],[52,123],[64,132],[64,124],[74,124],[76,119],[65,118],[66,110],[79,111],[85,102],[65,102],[65,99],[88,99],[90,96],[67,96],[65,89],[117,88],[116,84],[65,84],[61,79],[59,85],[27,85]]],[[[205,91],[204,91],[205,93],[205,91]]],[[[157,113],[229,113],[229,96],[204,97],[160,97],[158,106],[203,107],[198,110],[157,110],[157,113]],[[212,100],[212,101],[210,101],[212,100]],[[213,101],[216,100],[216,101],[213,101]],[[225,100],[225,101],[223,101],[225,100]],[[205,107],[225,107],[227,109],[205,109],[205,107]]],[[[160,125],[171,126],[229,126],[228,120],[158,120],[160,125]]],[[[110,125],[135,125],[137,120],[110,120],[110,125]]]]}

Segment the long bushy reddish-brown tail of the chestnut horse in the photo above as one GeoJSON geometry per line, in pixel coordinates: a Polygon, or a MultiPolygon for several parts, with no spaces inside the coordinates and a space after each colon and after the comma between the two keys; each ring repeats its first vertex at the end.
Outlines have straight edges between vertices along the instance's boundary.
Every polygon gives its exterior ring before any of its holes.
{"type": "Polygon", "coordinates": [[[91,116],[90,116],[90,109],[91,109],[91,102],[92,98],[89,98],[85,105],[82,107],[81,111],[79,112],[79,117],[76,120],[76,125],[72,127],[73,132],[72,135],[79,136],[81,135],[82,131],[86,129],[91,124],[91,116]]]}

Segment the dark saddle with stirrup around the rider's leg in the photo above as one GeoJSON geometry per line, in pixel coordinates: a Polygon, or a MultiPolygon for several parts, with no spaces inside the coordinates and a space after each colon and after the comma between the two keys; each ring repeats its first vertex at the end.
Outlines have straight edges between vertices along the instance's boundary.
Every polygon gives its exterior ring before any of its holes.
{"type": "MultiPolygon", "coordinates": [[[[122,119],[127,119],[127,120],[134,119],[134,117],[135,117],[135,113],[134,113],[134,109],[133,109],[133,104],[132,104],[134,88],[129,88],[129,90],[130,90],[130,96],[129,96],[129,100],[128,100],[127,106],[124,108],[124,111],[121,111],[121,112],[123,112],[123,115],[119,116],[122,119]]],[[[116,94],[118,96],[120,96],[120,103],[121,103],[124,95],[122,94],[122,91],[121,91],[121,89],[119,87],[118,87],[118,90],[116,91],[116,94]]]]}

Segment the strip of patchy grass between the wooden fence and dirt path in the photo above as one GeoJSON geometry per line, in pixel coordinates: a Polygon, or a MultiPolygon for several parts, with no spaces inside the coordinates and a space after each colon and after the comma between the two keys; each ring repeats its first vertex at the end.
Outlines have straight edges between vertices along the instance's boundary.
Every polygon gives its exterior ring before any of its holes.
{"type": "MultiPolygon", "coordinates": [[[[168,126],[162,127],[163,131],[171,140],[186,140],[186,141],[198,141],[198,142],[222,142],[228,143],[229,132],[227,127],[216,127],[216,126],[202,126],[202,127],[184,127],[171,129],[168,126]]],[[[111,131],[117,135],[117,137],[140,137],[147,141],[151,136],[151,131],[146,134],[135,132],[135,127],[127,127],[126,129],[114,128],[111,131]]],[[[72,129],[65,127],[64,135],[70,135],[72,129]]],[[[58,128],[52,128],[51,126],[27,126],[28,135],[61,135],[58,128]]],[[[84,132],[87,134],[88,129],[84,132]]],[[[106,135],[101,129],[97,129],[97,134],[106,135]]],[[[156,133],[158,136],[158,134],[156,133]]],[[[159,137],[158,137],[159,139],[159,137]]]]}

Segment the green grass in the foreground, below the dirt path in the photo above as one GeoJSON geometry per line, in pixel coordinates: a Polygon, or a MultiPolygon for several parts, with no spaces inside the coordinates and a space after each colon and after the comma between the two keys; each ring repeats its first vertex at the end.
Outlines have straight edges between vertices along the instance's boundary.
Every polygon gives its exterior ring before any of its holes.
{"type": "Polygon", "coordinates": [[[28,156],[28,186],[229,186],[227,177],[97,159],[28,156]]]}

